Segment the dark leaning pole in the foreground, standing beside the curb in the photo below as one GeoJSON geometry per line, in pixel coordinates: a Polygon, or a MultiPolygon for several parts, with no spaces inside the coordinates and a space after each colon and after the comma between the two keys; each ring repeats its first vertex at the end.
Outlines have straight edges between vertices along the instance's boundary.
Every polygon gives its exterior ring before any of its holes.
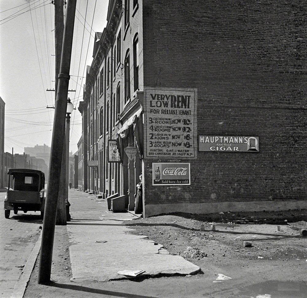
{"type": "Polygon", "coordinates": [[[69,69],[72,55],[72,37],[76,14],[76,0],[68,0],[63,35],[63,46],[58,89],[56,94],[52,141],[50,152],[49,183],[45,202],[45,214],[42,229],[41,252],[38,269],[38,283],[50,282],[56,206],[59,195],[60,171],[65,137],[67,93],[69,69]]]}

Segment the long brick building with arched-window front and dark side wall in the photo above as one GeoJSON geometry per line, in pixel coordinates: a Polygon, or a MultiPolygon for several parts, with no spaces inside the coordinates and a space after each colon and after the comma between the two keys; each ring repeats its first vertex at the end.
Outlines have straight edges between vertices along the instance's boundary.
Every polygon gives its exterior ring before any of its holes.
{"type": "Polygon", "coordinates": [[[306,16],[302,1],[110,1],[79,105],[87,190],[133,210],[142,173],[145,216],[306,207],[306,16]]]}

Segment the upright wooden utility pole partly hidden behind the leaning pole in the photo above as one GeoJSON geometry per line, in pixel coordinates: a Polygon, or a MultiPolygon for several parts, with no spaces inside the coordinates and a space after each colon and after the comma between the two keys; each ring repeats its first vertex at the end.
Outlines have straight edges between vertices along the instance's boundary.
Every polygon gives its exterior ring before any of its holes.
{"type": "MultiPolygon", "coordinates": [[[[61,52],[64,33],[64,1],[54,0],[54,40],[55,40],[55,98],[58,91],[58,75],[60,73],[61,52]]],[[[65,134],[64,134],[65,138],[65,134]]],[[[65,146],[65,141],[63,139],[65,146]]],[[[62,159],[65,158],[65,147],[63,148],[62,159]]],[[[66,190],[65,190],[65,159],[62,160],[60,173],[60,190],[56,210],[56,225],[66,225],[66,190]]]]}

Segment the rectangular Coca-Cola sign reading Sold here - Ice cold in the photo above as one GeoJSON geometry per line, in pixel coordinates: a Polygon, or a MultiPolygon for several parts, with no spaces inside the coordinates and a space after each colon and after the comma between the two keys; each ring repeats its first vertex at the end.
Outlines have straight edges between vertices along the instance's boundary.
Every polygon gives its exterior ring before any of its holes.
{"type": "Polygon", "coordinates": [[[153,185],[190,185],[190,163],[153,163],[153,185]]]}

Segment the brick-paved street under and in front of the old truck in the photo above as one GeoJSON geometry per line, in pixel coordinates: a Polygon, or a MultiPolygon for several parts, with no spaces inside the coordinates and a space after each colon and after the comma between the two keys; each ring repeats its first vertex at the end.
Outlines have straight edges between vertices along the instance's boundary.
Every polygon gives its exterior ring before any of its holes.
{"type": "Polygon", "coordinates": [[[10,218],[4,218],[3,201],[5,192],[0,192],[0,297],[10,297],[16,282],[19,280],[22,267],[40,234],[42,225],[40,212],[13,211],[10,218]]]}

